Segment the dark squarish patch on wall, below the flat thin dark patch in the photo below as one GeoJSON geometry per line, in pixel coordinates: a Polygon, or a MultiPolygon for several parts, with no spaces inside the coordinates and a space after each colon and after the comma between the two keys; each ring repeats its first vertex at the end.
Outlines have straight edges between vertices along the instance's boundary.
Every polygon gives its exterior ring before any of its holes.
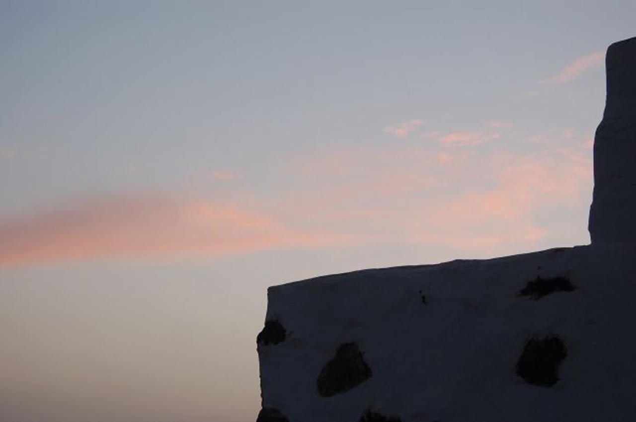
{"type": "Polygon", "coordinates": [[[566,356],[559,337],[531,338],[517,361],[516,374],[529,384],[551,387],[558,381],[558,367],[566,356]]]}

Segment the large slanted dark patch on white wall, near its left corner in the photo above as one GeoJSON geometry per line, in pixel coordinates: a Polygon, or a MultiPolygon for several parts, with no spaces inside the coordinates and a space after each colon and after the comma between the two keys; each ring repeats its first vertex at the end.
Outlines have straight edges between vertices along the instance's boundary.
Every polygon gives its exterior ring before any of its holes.
{"type": "Polygon", "coordinates": [[[342,343],[336,355],[322,367],[316,386],[322,397],[342,394],[371,378],[371,368],[357,343],[342,343]]]}

